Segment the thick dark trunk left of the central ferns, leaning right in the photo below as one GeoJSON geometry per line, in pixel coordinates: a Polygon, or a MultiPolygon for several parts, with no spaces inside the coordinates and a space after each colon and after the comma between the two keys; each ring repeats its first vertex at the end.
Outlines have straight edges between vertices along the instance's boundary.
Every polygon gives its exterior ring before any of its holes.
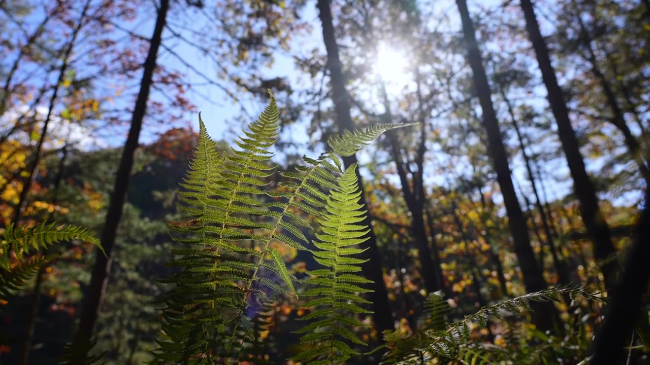
{"type": "Polygon", "coordinates": [[[115,238],[118,231],[118,225],[122,218],[122,208],[125,201],[125,195],[131,179],[131,168],[133,168],[133,158],[138,147],[138,138],[142,129],[142,120],[146,114],[147,101],[149,99],[149,90],[151,89],[153,72],[156,68],[158,49],[162,42],[162,31],[169,9],[169,0],[161,0],[161,6],[158,10],[153,36],[151,36],[151,45],[149,53],[144,61],[144,71],[142,81],[140,82],[140,91],[133,108],[131,118],[131,129],[127,136],[120,166],[118,167],[113,192],[110,195],[109,208],[106,213],[106,220],[101,232],[100,242],[106,255],[98,251],[97,259],[92,270],[90,284],[84,297],[83,309],[81,311],[81,320],[75,342],[86,341],[90,339],[95,331],[99,312],[101,311],[101,302],[106,290],[106,284],[109,279],[110,264],[112,260],[112,250],[115,245],[115,238]]]}

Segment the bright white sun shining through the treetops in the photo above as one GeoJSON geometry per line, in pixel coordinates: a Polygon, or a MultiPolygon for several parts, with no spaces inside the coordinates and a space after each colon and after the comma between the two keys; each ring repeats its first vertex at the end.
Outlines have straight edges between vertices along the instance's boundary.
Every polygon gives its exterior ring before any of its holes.
{"type": "Polygon", "coordinates": [[[387,89],[396,90],[408,84],[408,66],[409,62],[404,53],[385,44],[379,45],[373,69],[387,89]]]}

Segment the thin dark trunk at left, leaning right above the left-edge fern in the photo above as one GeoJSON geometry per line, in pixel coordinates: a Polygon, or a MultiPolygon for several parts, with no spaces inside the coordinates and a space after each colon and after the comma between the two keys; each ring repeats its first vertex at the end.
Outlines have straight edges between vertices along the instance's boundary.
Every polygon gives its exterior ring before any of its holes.
{"type": "Polygon", "coordinates": [[[75,43],[77,42],[77,36],[79,36],[79,32],[81,32],[81,27],[83,27],[84,25],[84,19],[86,18],[86,12],[88,12],[89,7],[90,7],[90,0],[86,1],[83,10],[81,10],[81,16],[79,16],[79,23],[77,23],[77,25],[75,26],[75,29],[72,32],[72,38],[70,39],[70,43],[68,43],[68,47],[66,47],[66,51],[63,54],[61,68],[59,69],[59,77],[57,77],[57,84],[55,84],[52,95],[49,98],[49,105],[47,107],[47,116],[45,116],[45,121],[43,122],[43,129],[41,131],[40,137],[38,138],[38,143],[36,144],[36,151],[34,152],[34,156],[32,157],[31,164],[27,169],[28,175],[27,178],[25,178],[25,182],[23,183],[23,189],[20,191],[20,195],[18,197],[18,205],[16,205],[16,208],[14,209],[14,214],[11,220],[12,223],[14,223],[14,225],[18,225],[20,219],[25,213],[25,207],[27,207],[27,194],[29,194],[29,190],[31,190],[32,184],[34,184],[34,181],[36,180],[36,175],[38,175],[38,164],[40,164],[41,153],[43,151],[43,145],[45,144],[45,137],[47,136],[47,128],[49,127],[49,122],[52,119],[52,113],[54,111],[55,104],[57,103],[59,88],[61,84],[63,84],[63,81],[66,77],[66,71],[68,70],[68,66],[69,66],[68,62],[70,62],[70,56],[72,56],[72,49],[74,48],[75,43]]]}

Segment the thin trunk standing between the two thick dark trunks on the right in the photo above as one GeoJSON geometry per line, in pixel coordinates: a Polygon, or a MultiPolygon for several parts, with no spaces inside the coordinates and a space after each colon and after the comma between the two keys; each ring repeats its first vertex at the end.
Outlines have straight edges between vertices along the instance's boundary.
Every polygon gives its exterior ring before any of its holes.
{"type": "MultiPolygon", "coordinates": [[[[555,242],[553,242],[553,234],[551,233],[551,227],[549,225],[549,221],[547,220],[544,207],[542,207],[541,205],[541,199],[539,199],[537,183],[535,182],[535,177],[532,173],[532,166],[530,166],[530,158],[528,158],[528,153],[526,152],[526,146],[524,145],[523,137],[521,136],[521,131],[519,130],[519,123],[517,123],[517,118],[515,118],[515,111],[513,110],[512,104],[510,103],[510,99],[508,99],[508,97],[506,96],[506,92],[503,90],[502,86],[499,86],[499,91],[503,101],[506,103],[506,106],[508,107],[508,113],[510,114],[510,118],[512,120],[512,127],[515,129],[515,133],[517,134],[517,140],[519,140],[519,149],[521,149],[521,154],[523,155],[524,158],[524,162],[526,165],[526,172],[528,173],[528,180],[530,181],[530,186],[532,187],[533,194],[535,195],[535,207],[539,211],[539,216],[541,217],[541,227],[543,228],[544,234],[546,236],[546,244],[549,246],[549,250],[551,251],[551,258],[553,259],[553,265],[555,266],[555,270],[558,271],[559,283],[568,284],[570,281],[569,270],[567,269],[566,263],[564,262],[564,258],[560,258],[560,255],[558,255],[558,250],[555,247],[555,242]]],[[[532,216],[532,212],[530,212],[530,214],[532,216]]],[[[533,224],[534,222],[535,221],[533,220],[533,224]]]]}

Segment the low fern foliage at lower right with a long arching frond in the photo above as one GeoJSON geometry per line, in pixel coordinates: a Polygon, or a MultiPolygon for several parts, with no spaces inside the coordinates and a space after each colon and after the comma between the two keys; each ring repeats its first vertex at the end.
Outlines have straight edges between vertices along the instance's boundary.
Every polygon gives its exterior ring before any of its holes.
{"type": "MultiPolygon", "coordinates": [[[[444,324],[443,320],[449,314],[450,308],[441,293],[432,293],[426,299],[425,316],[427,319],[422,325],[424,331],[412,335],[398,331],[384,333],[385,347],[388,351],[384,355],[383,363],[427,364],[431,359],[444,357],[460,364],[536,364],[539,359],[547,359],[549,355],[557,358],[558,354],[554,351],[549,353],[549,349],[560,348],[562,344],[556,338],[551,338],[536,330],[532,331],[533,337],[528,338],[527,341],[537,341],[539,346],[530,347],[527,343],[519,344],[521,346],[516,350],[472,341],[471,334],[476,325],[479,328],[487,328],[490,318],[505,321],[506,315],[525,314],[530,310],[532,301],[562,302],[563,296],[566,294],[571,299],[582,296],[591,301],[604,300],[578,284],[567,284],[508,299],[481,308],[478,312],[465,316],[460,321],[444,324]]],[[[515,337],[525,338],[526,336],[515,337]]],[[[512,345],[510,344],[510,346],[512,345]]],[[[552,360],[548,363],[551,364],[552,360]]]]}

